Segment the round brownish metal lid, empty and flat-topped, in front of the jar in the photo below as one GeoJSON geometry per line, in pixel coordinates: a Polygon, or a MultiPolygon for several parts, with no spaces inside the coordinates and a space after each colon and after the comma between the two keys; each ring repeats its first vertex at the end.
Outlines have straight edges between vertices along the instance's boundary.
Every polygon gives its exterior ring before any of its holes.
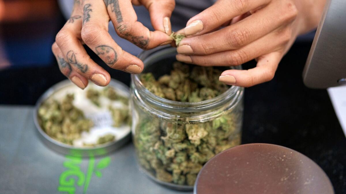
{"type": "Polygon", "coordinates": [[[334,194],[323,170],[290,148],[245,144],[208,161],[194,185],[197,194],[334,194]]]}

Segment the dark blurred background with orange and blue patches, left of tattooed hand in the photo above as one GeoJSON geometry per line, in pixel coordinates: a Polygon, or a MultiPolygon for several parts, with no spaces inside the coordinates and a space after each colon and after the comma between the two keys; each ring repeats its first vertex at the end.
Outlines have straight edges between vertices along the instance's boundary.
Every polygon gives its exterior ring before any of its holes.
{"type": "Polygon", "coordinates": [[[58,73],[51,45],[65,23],[55,0],[0,0],[0,104],[33,105],[58,73]]]}

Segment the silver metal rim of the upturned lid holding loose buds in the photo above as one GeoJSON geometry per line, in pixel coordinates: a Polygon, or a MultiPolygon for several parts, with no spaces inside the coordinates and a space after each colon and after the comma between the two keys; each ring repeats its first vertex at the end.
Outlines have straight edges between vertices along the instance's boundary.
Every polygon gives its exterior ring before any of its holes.
{"type": "MultiPolygon", "coordinates": [[[[89,86],[92,83],[89,83],[89,86]]],[[[94,85],[95,87],[98,87],[96,85],[94,85]]],[[[85,88],[85,89],[88,89],[85,88]]],[[[110,83],[109,83],[109,87],[115,88],[117,91],[120,91],[122,94],[126,95],[127,97],[130,96],[129,93],[129,88],[121,83],[120,81],[111,79],[110,83]]],[[[49,88],[47,91],[45,91],[45,93],[38,99],[36,105],[35,105],[35,109],[34,109],[34,122],[38,131],[38,135],[40,136],[40,139],[42,139],[43,143],[53,149],[56,152],[62,153],[62,154],[67,154],[67,155],[72,155],[72,156],[84,156],[84,157],[88,157],[88,156],[99,156],[99,155],[104,155],[107,153],[110,153],[112,151],[114,151],[115,149],[119,148],[120,146],[124,145],[125,143],[127,143],[131,136],[131,129],[129,126],[129,129],[126,130],[126,132],[124,132],[124,134],[121,135],[121,137],[116,137],[116,139],[112,142],[108,142],[108,143],[104,143],[104,144],[100,144],[100,145],[95,145],[95,146],[86,146],[86,147],[78,147],[78,146],[73,146],[73,145],[69,145],[69,144],[64,144],[62,142],[59,142],[58,140],[48,136],[44,130],[42,129],[42,127],[39,124],[39,120],[38,120],[38,108],[42,105],[42,103],[44,103],[45,100],[47,100],[48,98],[51,98],[52,96],[54,96],[56,93],[58,93],[61,90],[64,90],[66,88],[69,88],[70,91],[75,91],[75,90],[80,90],[77,86],[75,86],[73,83],[71,83],[70,80],[63,80],[57,84],[55,84],[54,86],[52,86],[51,88],[49,88]],[[75,89],[75,90],[74,90],[75,89]]]]}

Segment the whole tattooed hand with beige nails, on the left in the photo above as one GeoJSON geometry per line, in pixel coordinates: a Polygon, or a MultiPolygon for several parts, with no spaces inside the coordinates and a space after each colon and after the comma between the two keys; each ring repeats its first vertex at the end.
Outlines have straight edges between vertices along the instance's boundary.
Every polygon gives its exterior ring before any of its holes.
{"type": "Polygon", "coordinates": [[[85,43],[111,68],[139,74],[143,62],[117,45],[108,33],[108,22],[112,21],[121,38],[151,49],[172,42],[169,18],[174,7],[174,0],[74,0],[71,18],[52,46],[60,71],[82,89],[88,79],[99,86],[108,85],[109,73],[90,59],[85,43]],[[132,4],[149,10],[155,31],[137,21],[132,4]]]}

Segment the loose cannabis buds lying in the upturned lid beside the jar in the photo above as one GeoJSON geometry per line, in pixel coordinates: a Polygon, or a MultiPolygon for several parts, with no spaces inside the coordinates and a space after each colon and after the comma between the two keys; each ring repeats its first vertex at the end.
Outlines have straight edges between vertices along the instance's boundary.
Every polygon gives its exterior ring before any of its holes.
{"type": "MultiPolygon", "coordinates": [[[[110,100],[119,100],[124,103],[125,108],[115,108],[109,106],[112,114],[113,126],[118,127],[122,124],[129,124],[130,115],[128,110],[128,99],[119,95],[115,89],[107,87],[102,91],[89,89],[86,97],[96,106],[100,106],[99,97],[103,95],[110,100]]],[[[82,132],[89,132],[93,123],[85,118],[83,111],[73,106],[74,95],[67,94],[59,102],[54,99],[45,101],[38,109],[40,126],[50,137],[59,142],[73,145],[75,139],[81,137],[82,132]]],[[[95,144],[85,144],[84,146],[95,146],[115,140],[113,134],[106,134],[98,138],[95,144]]]]}

